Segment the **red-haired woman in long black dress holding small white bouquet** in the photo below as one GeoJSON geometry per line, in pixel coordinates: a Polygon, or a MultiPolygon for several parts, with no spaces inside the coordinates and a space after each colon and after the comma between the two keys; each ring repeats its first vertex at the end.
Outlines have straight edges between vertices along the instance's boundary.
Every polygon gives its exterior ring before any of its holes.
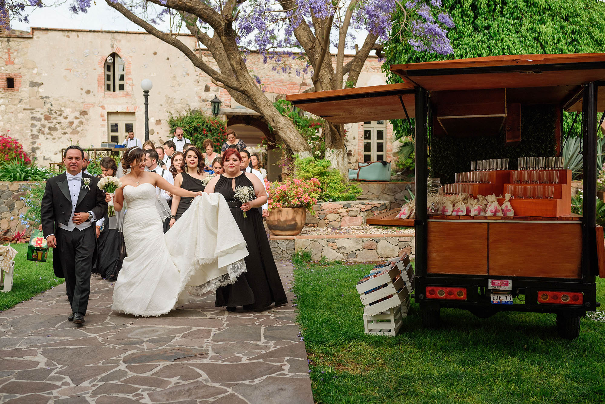
{"type": "Polygon", "coordinates": [[[257,176],[241,172],[240,165],[241,155],[237,150],[227,149],[223,154],[224,174],[212,178],[206,186],[206,192],[220,192],[227,200],[249,252],[244,258],[247,272],[240,275],[234,284],[217,289],[215,306],[227,306],[227,311],[235,311],[237,306],[258,310],[272,303],[280,305],[288,301],[269,247],[263,218],[258,209],[254,209],[267,201],[267,192],[257,176]],[[257,198],[242,204],[234,198],[236,186],[253,186],[257,198]]]}

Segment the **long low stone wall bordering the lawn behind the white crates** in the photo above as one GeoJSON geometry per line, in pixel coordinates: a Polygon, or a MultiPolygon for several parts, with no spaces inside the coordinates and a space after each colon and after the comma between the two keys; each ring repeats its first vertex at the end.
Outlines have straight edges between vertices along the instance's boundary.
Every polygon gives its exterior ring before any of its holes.
{"type": "Polygon", "coordinates": [[[401,255],[414,258],[414,235],[358,234],[273,236],[269,238],[275,259],[291,259],[295,251],[308,251],[313,261],[325,256],[329,261],[374,262],[401,255]]]}

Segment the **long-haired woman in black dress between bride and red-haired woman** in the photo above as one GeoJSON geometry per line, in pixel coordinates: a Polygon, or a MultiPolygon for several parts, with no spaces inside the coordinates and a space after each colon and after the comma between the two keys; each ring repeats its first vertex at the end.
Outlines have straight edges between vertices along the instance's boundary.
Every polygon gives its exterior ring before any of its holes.
{"type": "MultiPolygon", "coordinates": [[[[187,149],[181,169],[182,171],[174,177],[174,186],[181,187],[187,191],[204,191],[205,186],[201,181],[208,177],[209,174],[204,172],[204,158],[197,148],[187,149]]],[[[172,197],[170,227],[185,213],[185,210],[189,209],[192,200],[193,198],[181,198],[177,197],[177,195],[172,197]]]]}

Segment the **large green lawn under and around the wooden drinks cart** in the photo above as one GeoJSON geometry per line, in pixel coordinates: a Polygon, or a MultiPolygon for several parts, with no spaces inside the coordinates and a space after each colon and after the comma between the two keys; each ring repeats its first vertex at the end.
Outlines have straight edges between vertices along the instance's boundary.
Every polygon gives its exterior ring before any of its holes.
{"type": "MultiPolygon", "coordinates": [[[[295,263],[298,321],[318,403],[605,402],[605,323],[557,336],[553,314],[479,319],[442,309],[424,330],[418,305],[396,337],[364,334],[355,284],[368,265],[295,263]]],[[[605,281],[598,279],[605,305],[605,281]]]]}

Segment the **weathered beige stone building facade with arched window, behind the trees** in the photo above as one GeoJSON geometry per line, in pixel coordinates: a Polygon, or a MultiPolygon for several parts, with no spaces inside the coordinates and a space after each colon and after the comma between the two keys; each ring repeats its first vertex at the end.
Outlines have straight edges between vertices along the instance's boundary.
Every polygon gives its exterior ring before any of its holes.
{"type": "MultiPolygon", "coordinates": [[[[215,65],[208,51],[196,48],[194,37],[178,39],[215,65]]],[[[270,99],[309,87],[309,74],[296,74],[302,61],[292,60],[287,73],[263,64],[259,54],[250,54],[247,65],[260,77],[270,99]]],[[[128,128],[144,140],[143,79],[153,82],[149,137],[155,143],[171,137],[170,114],[189,109],[209,113],[215,96],[223,102],[221,116],[244,142],[257,145],[269,133],[263,117],[232,100],[180,51],[151,34],[53,28],[0,32],[0,133],[18,139],[43,166],[58,163],[61,149],[70,144],[122,143],[128,128]]],[[[383,83],[381,62],[369,57],[358,86],[383,83]]],[[[368,158],[391,160],[387,122],[346,128],[351,166],[368,158]]],[[[275,158],[269,153],[269,164],[275,158]]]]}

